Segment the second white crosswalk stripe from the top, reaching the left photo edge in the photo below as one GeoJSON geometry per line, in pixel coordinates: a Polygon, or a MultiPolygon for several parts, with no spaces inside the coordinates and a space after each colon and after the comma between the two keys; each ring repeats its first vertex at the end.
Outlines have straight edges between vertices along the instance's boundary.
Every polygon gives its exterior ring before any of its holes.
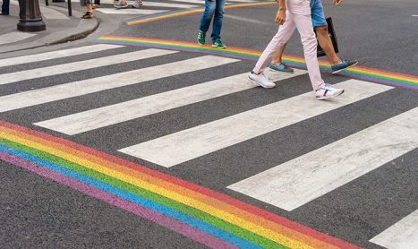
{"type": "Polygon", "coordinates": [[[162,50],[150,48],[141,51],[135,51],[131,53],[118,54],[115,56],[99,57],[96,59],[90,59],[85,61],[77,61],[68,64],[57,64],[47,67],[41,67],[26,71],[19,71],[14,73],[2,74],[2,81],[0,85],[9,84],[13,82],[20,82],[24,80],[37,79],[40,77],[47,77],[62,73],[73,73],[76,71],[96,68],[100,66],[106,66],[111,64],[121,64],[126,62],[132,62],[145,58],[164,56],[175,53],[174,51],[162,50]]]}

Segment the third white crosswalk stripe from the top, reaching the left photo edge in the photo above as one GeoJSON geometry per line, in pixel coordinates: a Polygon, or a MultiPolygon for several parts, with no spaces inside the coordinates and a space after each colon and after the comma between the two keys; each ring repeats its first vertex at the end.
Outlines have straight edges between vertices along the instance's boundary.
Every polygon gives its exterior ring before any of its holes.
{"type": "MultiPolygon", "coordinates": [[[[162,50],[162,52],[169,54],[175,53],[176,51],[162,50]]],[[[100,90],[110,90],[141,82],[158,80],[181,73],[190,73],[237,61],[238,60],[219,56],[200,56],[180,62],[160,64],[130,72],[115,73],[80,82],[70,82],[53,87],[6,95],[0,97],[0,112],[44,104],[60,99],[73,98],[100,90]]]]}

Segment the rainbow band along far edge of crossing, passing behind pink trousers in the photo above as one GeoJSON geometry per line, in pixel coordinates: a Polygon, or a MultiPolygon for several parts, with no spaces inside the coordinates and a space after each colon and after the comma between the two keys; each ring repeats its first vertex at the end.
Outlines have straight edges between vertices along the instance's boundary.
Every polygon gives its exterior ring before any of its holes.
{"type": "MultiPolygon", "coordinates": [[[[196,43],[178,40],[148,39],[125,36],[103,36],[100,37],[98,41],[103,43],[120,44],[128,46],[158,47],[170,50],[199,52],[209,55],[226,56],[252,61],[258,60],[262,52],[260,50],[253,50],[243,47],[228,47],[226,49],[218,49],[210,46],[200,46],[196,43]]],[[[283,60],[286,62],[286,64],[289,64],[293,67],[302,69],[306,68],[306,64],[303,57],[284,56],[283,60]]],[[[320,69],[325,72],[330,72],[329,63],[320,60],[320,69]]],[[[365,66],[354,66],[340,74],[363,81],[377,82],[391,86],[403,87],[411,90],[418,90],[418,76],[410,74],[394,73],[365,66]]]]}

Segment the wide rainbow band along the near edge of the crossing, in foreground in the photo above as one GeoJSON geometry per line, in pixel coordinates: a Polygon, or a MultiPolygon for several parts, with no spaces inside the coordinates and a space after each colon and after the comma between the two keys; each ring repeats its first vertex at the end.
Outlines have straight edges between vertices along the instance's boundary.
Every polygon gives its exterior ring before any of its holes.
{"type": "Polygon", "coordinates": [[[3,121],[0,159],[211,248],[359,248],[226,194],[3,121]]]}

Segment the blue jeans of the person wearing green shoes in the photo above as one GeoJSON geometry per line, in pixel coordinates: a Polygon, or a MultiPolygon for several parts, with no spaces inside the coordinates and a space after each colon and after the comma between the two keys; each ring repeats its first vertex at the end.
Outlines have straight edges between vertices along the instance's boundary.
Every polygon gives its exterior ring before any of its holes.
{"type": "Polygon", "coordinates": [[[224,19],[225,0],[205,0],[205,11],[200,19],[200,30],[206,33],[209,30],[210,21],[213,18],[213,30],[210,38],[212,41],[220,39],[220,30],[222,29],[222,20],[224,19]]]}

